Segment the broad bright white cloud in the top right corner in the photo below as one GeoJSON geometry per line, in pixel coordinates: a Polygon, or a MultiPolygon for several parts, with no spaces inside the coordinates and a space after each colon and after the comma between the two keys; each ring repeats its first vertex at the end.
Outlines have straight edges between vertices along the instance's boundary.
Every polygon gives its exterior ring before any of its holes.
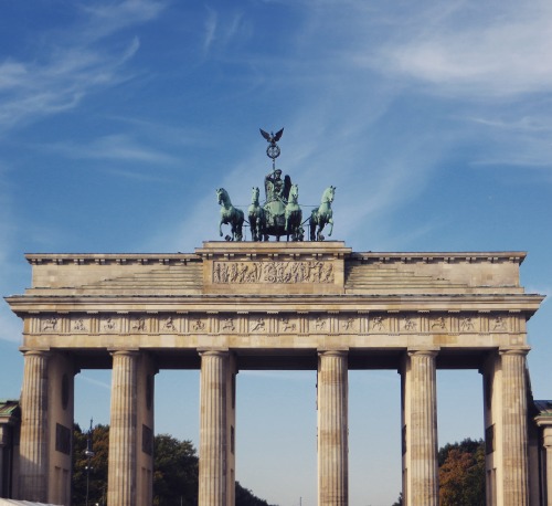
{"type": "Polygon", "coordinates": [[[550,89],[551,48],[550,2],[477,9],[459,2],[445,12],[427,10],[401,39],[375,54],[359,54],[359,62],[434,85],[440,93],[512,97],[550,89]]]}

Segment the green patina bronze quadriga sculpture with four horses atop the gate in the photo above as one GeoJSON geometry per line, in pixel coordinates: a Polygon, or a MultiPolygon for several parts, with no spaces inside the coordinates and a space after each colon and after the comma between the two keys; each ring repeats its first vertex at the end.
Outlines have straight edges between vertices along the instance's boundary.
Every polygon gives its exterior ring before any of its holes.
{"type": "Polygon", "coordinates": [[[247,208],[247,220],[241,209],[232,205],[230,196],[224,188],[216,190],[219,204],[221,204],[221,220],[219,233],[222,238],[222,225],[230,224],[232,235],[226,235],[227,241],[243,240],[243,223],[248,223],[251,228],[252,241],[268,241],[269,236],[279,241],[285,235],[287,240],[302,241],[305,230],[302,225],[308,221],[311,241],[323,241],[322,230],[326,224],[330,225],[328,235],[331,236],[333,230],[331,202],[336,192],[336,187],[328,187],[321,198],[320,205],[312,210],[307,220],[302,221],[302,211],[299,205],[299,187],[291,183],[289,176],[282,178],[282,170],[276,168],[276,158],[280,155],[277,141],[282,138],[284,128],[276,134],[268,134],[261,129],[261,135],[267,140],[266,155],[273,160],[273,170],[265,176],[265,202],[259,202],[259,189],[253,187],[251,205],[247,208]]]}

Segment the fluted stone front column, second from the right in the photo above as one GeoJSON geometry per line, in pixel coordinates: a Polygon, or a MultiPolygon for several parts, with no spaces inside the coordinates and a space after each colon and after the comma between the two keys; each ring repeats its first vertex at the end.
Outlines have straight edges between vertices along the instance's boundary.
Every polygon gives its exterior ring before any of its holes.
{"type": "MultiPolygon", "coordinates": [[[[437,391],[435,349],[408,350],[406,365],[405,439],[406,504],[438,505],[437,391]]],[[[404,396],[405,393],[403,393],[404,396]]]]}

